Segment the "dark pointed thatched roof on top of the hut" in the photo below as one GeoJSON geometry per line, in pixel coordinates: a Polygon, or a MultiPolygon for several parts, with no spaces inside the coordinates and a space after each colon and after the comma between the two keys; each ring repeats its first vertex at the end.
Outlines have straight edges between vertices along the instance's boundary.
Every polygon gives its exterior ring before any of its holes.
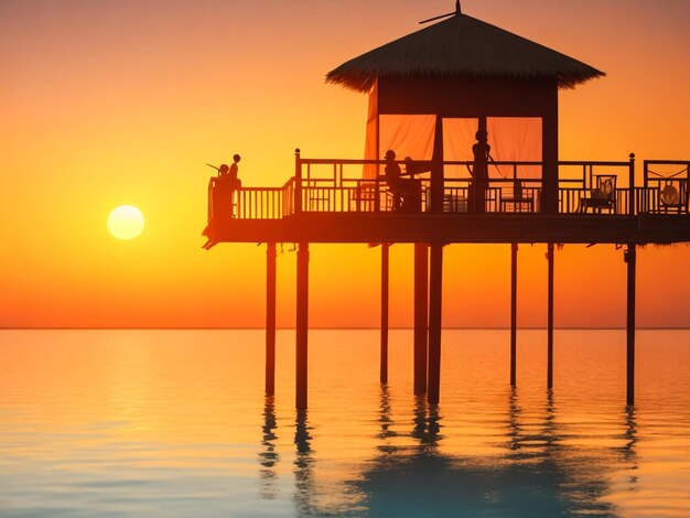
{"type": "Polygon", "coordinates": [[[342,64],[327,83],[369,91],[379,77],[553,78],[572,88],[603,72],[466,14],[379,46],[342,64]]]}

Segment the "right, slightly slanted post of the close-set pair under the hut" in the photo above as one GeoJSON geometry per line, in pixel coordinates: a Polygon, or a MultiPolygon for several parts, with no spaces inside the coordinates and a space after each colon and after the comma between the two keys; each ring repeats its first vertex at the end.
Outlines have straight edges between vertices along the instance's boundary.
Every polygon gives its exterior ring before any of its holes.
{"type": "Polygon", "coordinates": [[[439,402],[441,386],[441,302],[443,299],[443,245],[431,245],[429,274],[429,392],[430,404],[439,402]]]}

